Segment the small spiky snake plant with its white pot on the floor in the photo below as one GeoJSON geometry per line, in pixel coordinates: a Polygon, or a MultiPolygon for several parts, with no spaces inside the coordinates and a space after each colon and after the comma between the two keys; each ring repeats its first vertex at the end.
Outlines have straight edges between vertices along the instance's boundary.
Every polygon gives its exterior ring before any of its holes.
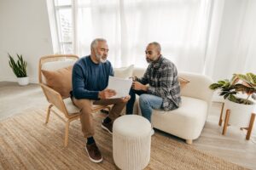
{"type": "Polygon", "coordinates": [[[18,60],[15,61],[15,59],[9,55],[9,66],[12,68],[12,70],[15,73],[15,76],[18,79],[18,83],[21,86],[25,86],[29,82],[29,77],[27,77],[26,74],[26,61],[22,58],[22,55],[17,54],[18,60]]]}

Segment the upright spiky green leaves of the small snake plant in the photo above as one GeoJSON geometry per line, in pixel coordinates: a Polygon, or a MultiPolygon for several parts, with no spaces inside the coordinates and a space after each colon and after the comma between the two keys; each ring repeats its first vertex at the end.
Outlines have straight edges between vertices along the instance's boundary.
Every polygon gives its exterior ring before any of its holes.
{"type": "Polygon", "coordinates": [[[18,60],[9,55],[9,66],[14,71],[16,77],[27,77],[26,75],[26,61],[22,58],[22,55],[17,54],[18,60]]]}

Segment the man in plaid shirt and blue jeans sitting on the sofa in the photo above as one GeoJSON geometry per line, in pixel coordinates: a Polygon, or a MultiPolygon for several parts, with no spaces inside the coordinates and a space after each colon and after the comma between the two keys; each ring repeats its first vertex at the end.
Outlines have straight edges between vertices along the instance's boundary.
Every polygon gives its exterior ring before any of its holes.
{"type": "Polygon", "coordinates": [[[171,111],[178,108],[181,103],[180,86],[177,68],[172,61],[161,55],[158,42],[149,43],[145,53],[149,65],[142,78],[133,77],[126,114],[132,114],[135,94],[138,94],[142,114],[151,122],[152,109],[171,111]]]}

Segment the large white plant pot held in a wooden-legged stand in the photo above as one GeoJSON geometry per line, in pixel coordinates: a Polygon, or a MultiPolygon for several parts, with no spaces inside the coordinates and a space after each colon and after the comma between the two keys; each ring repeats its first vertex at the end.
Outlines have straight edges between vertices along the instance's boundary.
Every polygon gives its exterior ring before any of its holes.
{"type": "MultiPolygon", "coordinates": [[[[255,111],[255,103],[253,105],[243,105],[237,104],[235,102],[230,101],[229,99],[225,99],[224,101],[224,114],[226,114],[226,110],[230,110],[230,120],[229,124],[237,127],[248,127],[251,114],[255,111]]],[[[224,117],[223,117],[224,118],[224,117]]]]}

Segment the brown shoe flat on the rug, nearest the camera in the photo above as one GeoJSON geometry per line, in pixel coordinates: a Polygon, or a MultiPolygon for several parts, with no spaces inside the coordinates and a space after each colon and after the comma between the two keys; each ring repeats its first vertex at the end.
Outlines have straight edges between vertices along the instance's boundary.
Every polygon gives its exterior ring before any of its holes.
{"type": "Polygon", "coordinates": [[[102,161],[102,153],[98,149],[96,143],[86,144],[85,150],[90,158],[90,161],[99,163],[102,161]]]}

